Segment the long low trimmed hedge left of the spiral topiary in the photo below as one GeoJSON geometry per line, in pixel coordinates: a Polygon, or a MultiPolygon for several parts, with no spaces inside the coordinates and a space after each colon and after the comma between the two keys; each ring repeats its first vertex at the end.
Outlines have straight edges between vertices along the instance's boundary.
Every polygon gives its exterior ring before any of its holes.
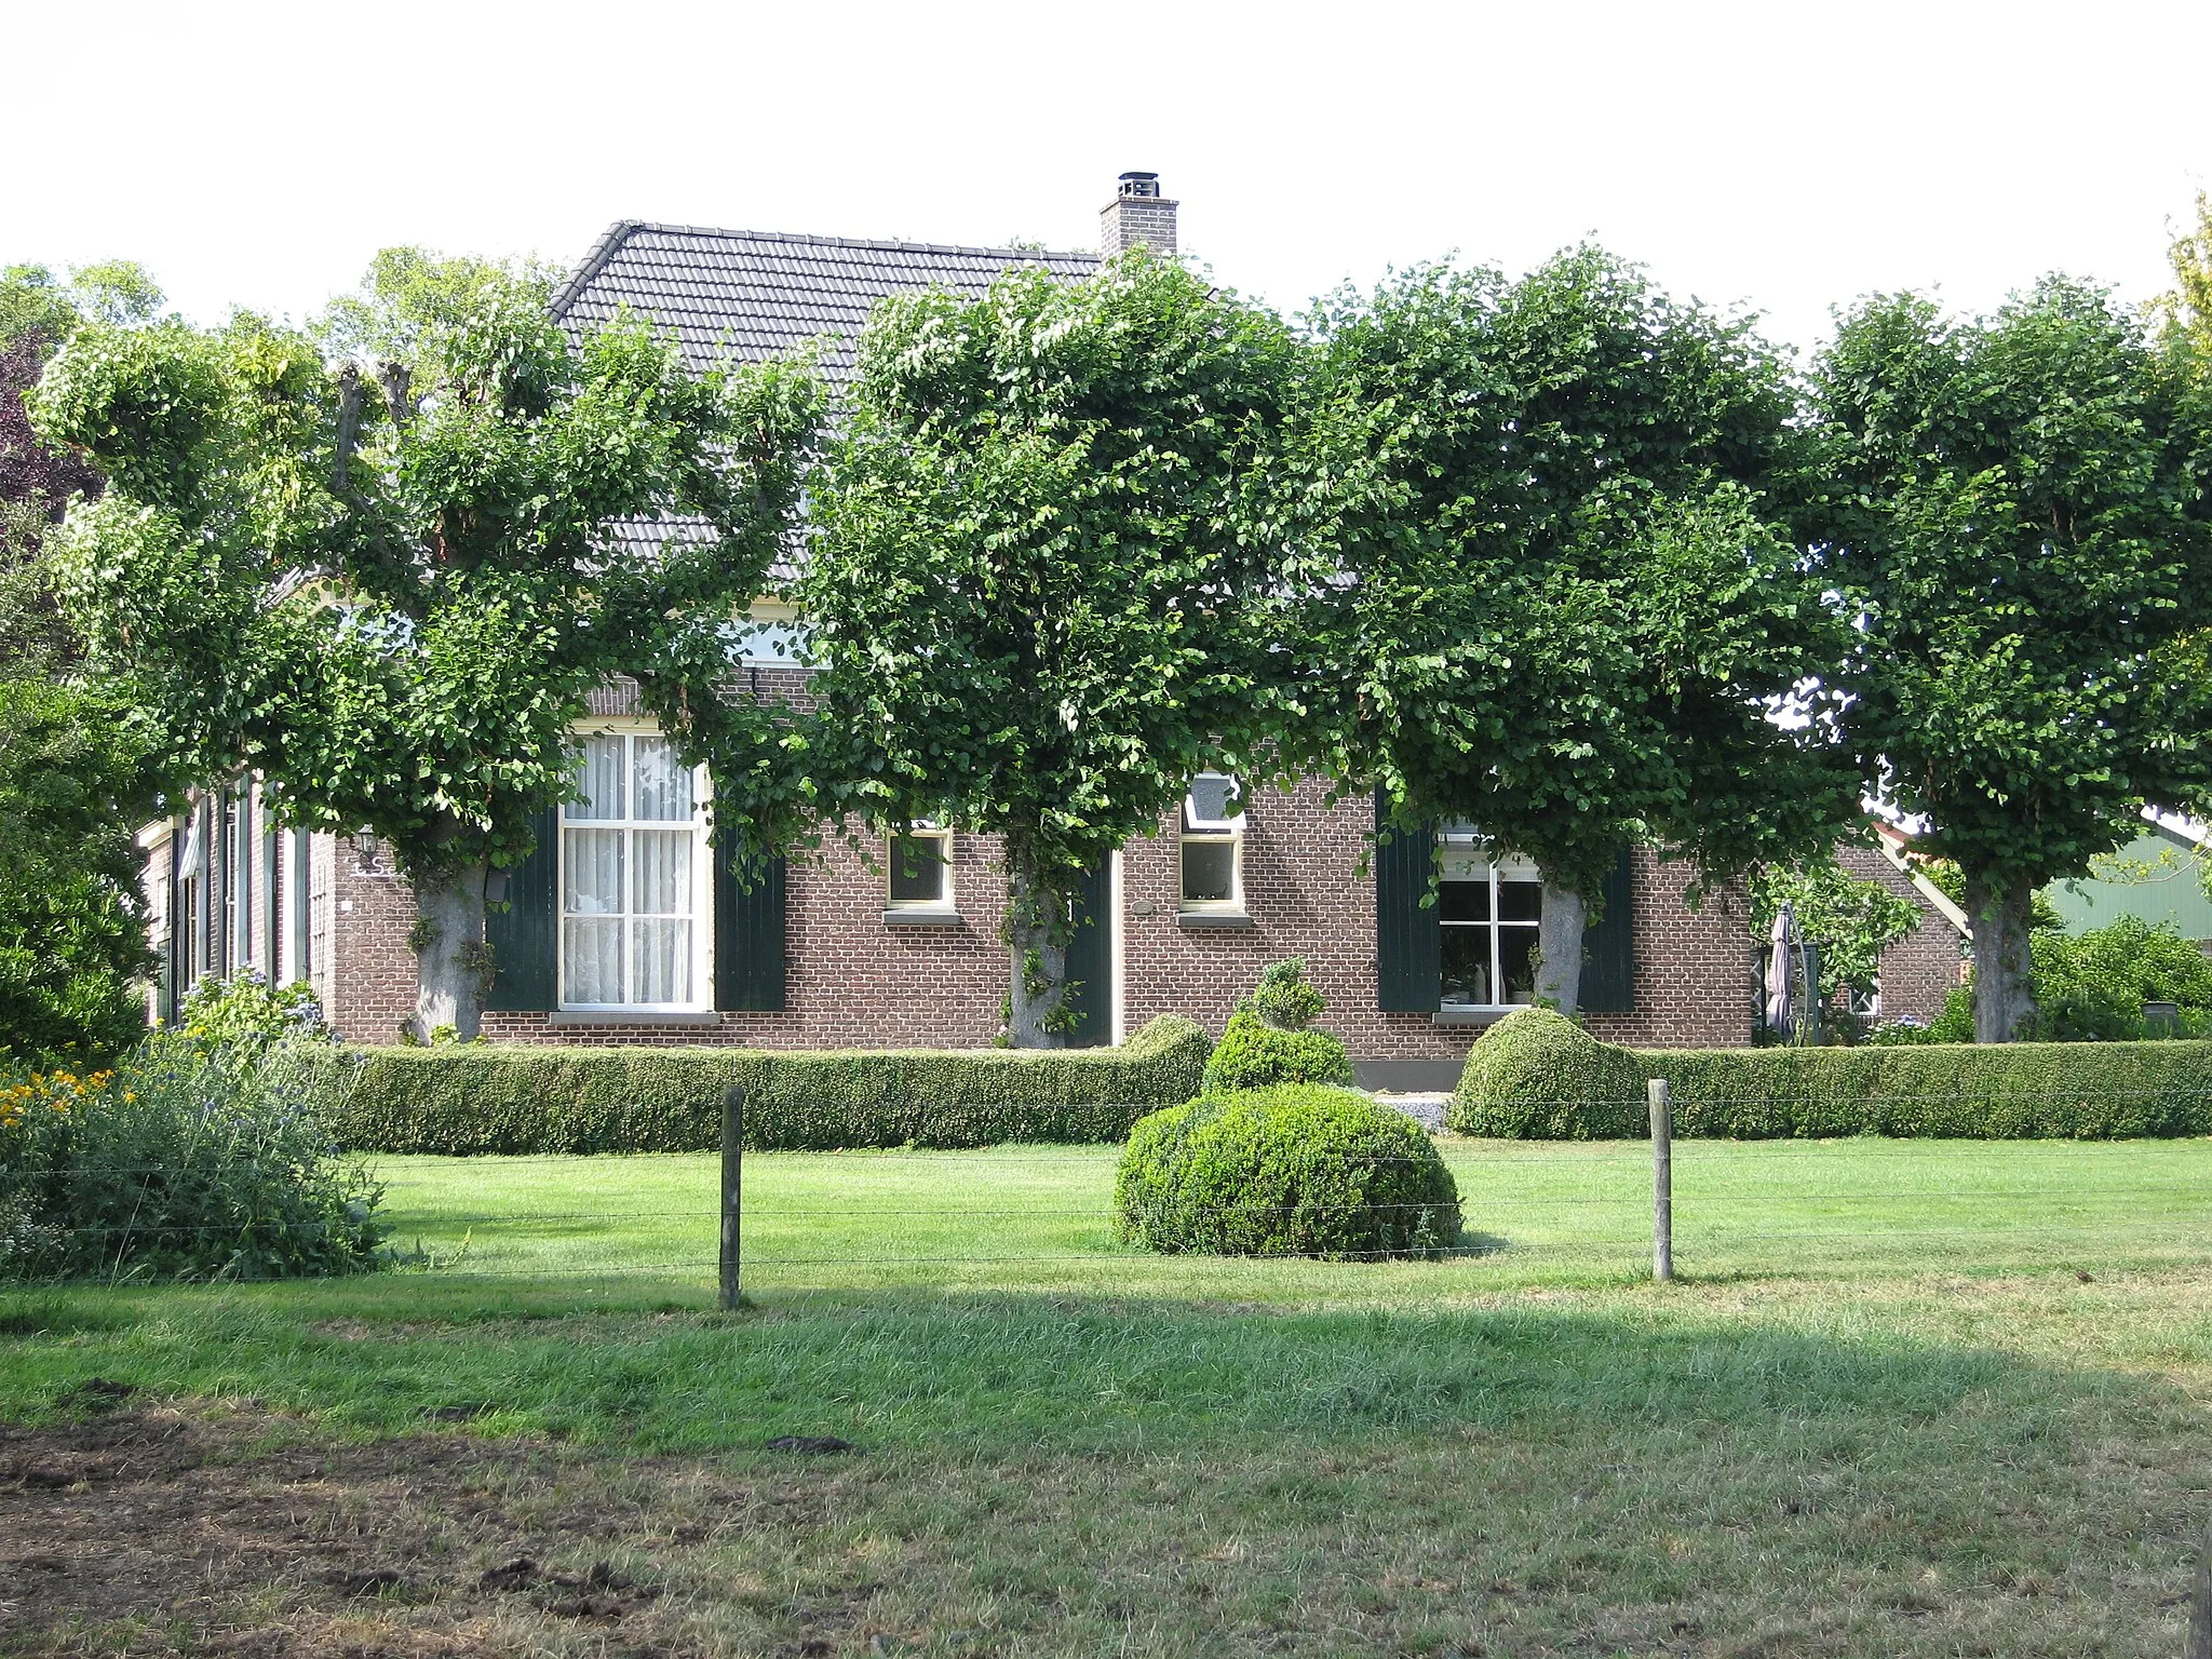
{"type": "Polygon", "coordinates": [[[332,1048],[316,1095],[358,1152],[701,1152],[745,1088],[745,1146],[1117,1141],[1199,1091],[1206,1031],[1164,1015],[1119,1048],[332,1048]]]}

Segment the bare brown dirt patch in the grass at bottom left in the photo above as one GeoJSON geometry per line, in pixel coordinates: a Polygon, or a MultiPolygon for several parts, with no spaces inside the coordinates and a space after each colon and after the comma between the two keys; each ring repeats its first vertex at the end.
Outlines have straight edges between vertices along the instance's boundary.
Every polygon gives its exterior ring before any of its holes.
{"type": "Polygon", "coordinates": [[[580,1464],[460,1436],[310,1440],[261,1413],[0,1429],[0,1646],[708,1652],[637,1553],[661,1517],[580,1464]]]}

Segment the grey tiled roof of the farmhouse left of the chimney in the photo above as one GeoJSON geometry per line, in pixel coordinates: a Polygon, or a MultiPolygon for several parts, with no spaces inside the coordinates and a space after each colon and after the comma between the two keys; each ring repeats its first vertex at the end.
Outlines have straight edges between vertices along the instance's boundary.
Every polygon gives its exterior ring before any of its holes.
{"type": "Polygon", "coordinates": [[[925,288],[980,294],[1009,265],[1044,265],[1075,281],[1097,263],[1095,254],[1026,248],[787,237],[626,219],[584,257],[553,299],[553,314],[588,325],[628,305],[675,330],[684,356],[699,367],[721,354],[757,361],[827,338],[823,372],[841,383],[852,374],[867,312],[885,294],[925,288]]]}

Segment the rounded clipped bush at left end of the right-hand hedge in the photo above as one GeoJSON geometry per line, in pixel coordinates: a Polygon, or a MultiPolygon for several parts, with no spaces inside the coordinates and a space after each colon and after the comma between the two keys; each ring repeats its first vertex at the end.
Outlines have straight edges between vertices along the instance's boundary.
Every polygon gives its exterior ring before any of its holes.
{"type": "Polygon", "coordinates": [[[1551,1009],[1520,1009],[1467,1051],[1447,1121],[1462,1135],[1537,1141],[1644,1135],[1644,1064],[1551,1009]]]}

